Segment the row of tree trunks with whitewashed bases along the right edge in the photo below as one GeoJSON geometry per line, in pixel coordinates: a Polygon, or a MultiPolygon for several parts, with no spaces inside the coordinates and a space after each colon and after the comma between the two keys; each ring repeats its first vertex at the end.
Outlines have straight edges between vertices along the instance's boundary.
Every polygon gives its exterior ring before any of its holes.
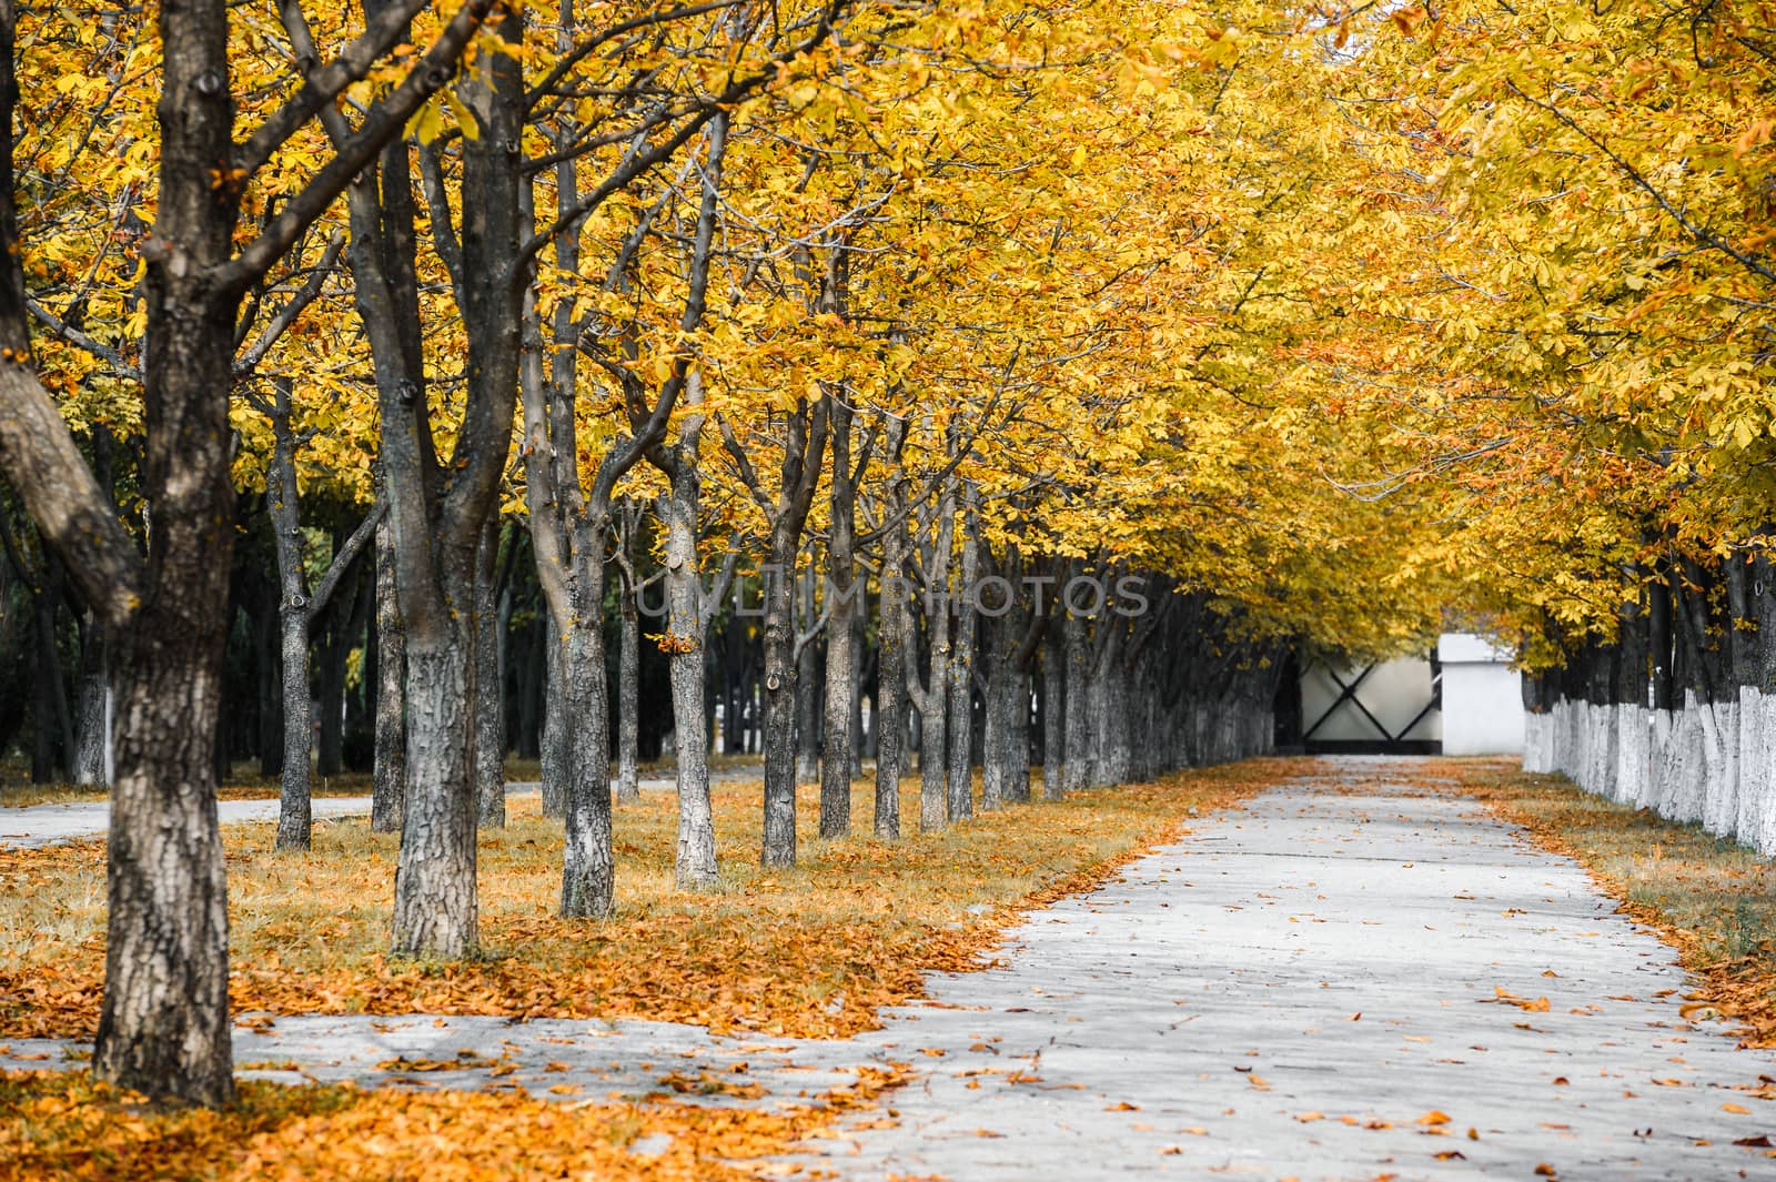
{"type": "Polygon", "coordinates": [[[1760,550],[1677,561],[1616,637],[1524,678],[1526,772],[1776,854],[1776,580],[1760,550]]]}

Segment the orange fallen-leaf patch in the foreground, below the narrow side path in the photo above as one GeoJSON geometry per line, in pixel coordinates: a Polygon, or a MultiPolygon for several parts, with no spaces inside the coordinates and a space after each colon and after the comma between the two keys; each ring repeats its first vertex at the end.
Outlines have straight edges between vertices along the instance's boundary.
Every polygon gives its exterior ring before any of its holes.
{"type": "Polygon", "coordinates": [[[9,1116],[0,1123],[0,1182],[737,1182],[762,1177],[757,1159],[874,1107],[897,1081],[897,1072],[865,1068],[819,1104],[774,1111],[247,1081],[236,1106],[215,1113],[155,1107],[85,1072],[0,1072],[9,1116]],[[670,1139],[645,1155],[629,1152],[645,1134],[670,1139]]]}

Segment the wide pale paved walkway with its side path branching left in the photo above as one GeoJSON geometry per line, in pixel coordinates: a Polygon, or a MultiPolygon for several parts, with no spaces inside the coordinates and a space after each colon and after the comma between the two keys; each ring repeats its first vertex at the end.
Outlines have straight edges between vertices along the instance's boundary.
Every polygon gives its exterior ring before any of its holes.
{"type": "Polygon", "coordinates": [[[565,1099],[723,1079],[776,1100],[913,1063],[893,1125],[805,1159],[842,1178],[1776,1177],[1769,1148],[1733,1145],[1776,1139],[1776,1052],[1687,1022],[1669,948],[1458,797],[1277,788],[1034,914],[1002,967],[931,985],[847,1042],[304,1017],[238,1029],[236,1058],[286,1079],[565,1099]],[[410,1067],[451,1058],[465,1070],[410,1067]]]}

